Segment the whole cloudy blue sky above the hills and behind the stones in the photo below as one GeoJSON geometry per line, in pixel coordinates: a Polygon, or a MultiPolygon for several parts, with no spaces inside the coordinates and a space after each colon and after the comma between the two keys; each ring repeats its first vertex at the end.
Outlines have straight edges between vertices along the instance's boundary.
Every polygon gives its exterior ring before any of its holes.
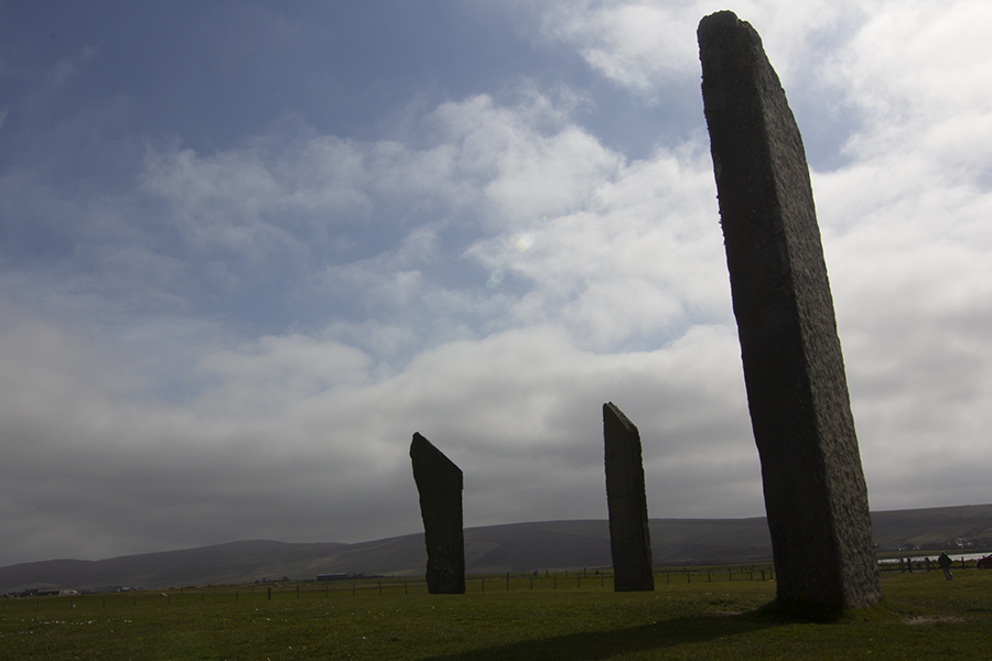
{"type": "Polygon", "coordinates": [[[873,510],[992,502],[992,4],[0,0],[0,565],[764,514],[699,20],[804,136],[873,510]]]}

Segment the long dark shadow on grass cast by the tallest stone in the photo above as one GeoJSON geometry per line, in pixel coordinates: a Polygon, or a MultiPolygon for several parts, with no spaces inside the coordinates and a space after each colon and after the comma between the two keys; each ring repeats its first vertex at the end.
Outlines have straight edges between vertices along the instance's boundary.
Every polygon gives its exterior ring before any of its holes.
{"type": "Polygon", "coordinates": [[[595,661],[622,653],[664,650],[677,644],[704,642],[778,626],[758,613],[742,615],[701,615],[616,629],[524,640],[484,649],[431,657],[424,661],[473,661],[504,659],[568,659],[595,661]]]}

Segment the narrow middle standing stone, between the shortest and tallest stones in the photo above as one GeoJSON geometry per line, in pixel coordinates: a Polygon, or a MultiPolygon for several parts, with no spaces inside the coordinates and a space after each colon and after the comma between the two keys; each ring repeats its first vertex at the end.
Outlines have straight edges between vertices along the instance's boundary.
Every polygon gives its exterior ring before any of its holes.
{"type": "Polygon", "coordinates": [[[606,445],[606,507],[610,510],[610,546],[613,551],[613,589],[655,589],[651,573],[651,533],[640,434],[613,402],[603,404],[606,445]]]}

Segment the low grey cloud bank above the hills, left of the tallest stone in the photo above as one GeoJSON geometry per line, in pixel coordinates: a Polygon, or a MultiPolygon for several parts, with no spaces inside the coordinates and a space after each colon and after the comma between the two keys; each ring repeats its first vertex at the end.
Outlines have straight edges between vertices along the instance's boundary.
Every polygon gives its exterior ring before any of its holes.
{"type": "Polygon", "coordinates": [[[47,358],[31,362],[35,371],[44,362],[51,378],[0,373],[4,393],[23,393],[3,399],[0,432],[11,440],[13,459],[4,463],[0,502],[12,524],[30,517],[41,529],[91,534],[85,543],[43,534],[22,540],[7,551],[11,561],[233,537],[358,541],[412,532],[419,513],[407,452],[414,431],[465,472],[470,525],[520,520],[521,511],[600,517],[600,409],[607,400],[640,426],[655,516],[703,511],[687,476],[701,479],[708,453],[726,469],[696,487],[726,495],[734,505],[725,513],[761,507],[726,328],[699,328],[658,351],[595,355],[575,348],[561,328],[533,327],[450,343],[380,376],[338,343],[267,337],[206,355],[202,368],[222,379],[182,407],[140,389],[121,397],[115,370],[96,367],[101,351],[51,323],[37,321],[30,333],[8,332],[0,342],[6,351],[28,355],[39,337],[47,337],[41,343],[47,358]],[[77,369],[79,360],[90,367],[77,369]],[[52,382],[88,393],[74,398],[85,410],[51,415],[52,382]],[[24,405],[32,400],[34,407],[24,405]],[[45,496],[30,512],[11,505],[39,480],[45,496]]]}

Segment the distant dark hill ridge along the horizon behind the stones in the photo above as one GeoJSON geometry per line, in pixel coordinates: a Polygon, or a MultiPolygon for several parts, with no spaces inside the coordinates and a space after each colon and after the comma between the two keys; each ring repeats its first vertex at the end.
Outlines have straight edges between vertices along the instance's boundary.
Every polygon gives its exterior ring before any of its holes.
{"type": "MultiPolygon", "coordinates": [[[[878,550],[937,549],[956,540],[992,548],[992,505],[872,513],[878,550]],[[967,541],[966,541],[967,540],[967,541]]],[[[756,562],[772,557],[764,517],[651,519],[657,566],[756,562]]],[[[541,521],[465,529],[468,573],[610,567],[605,520],[541,521]]],[[[427,564],[423,534],[357,544],[229,542],[200,549],[109,560],[51,560],[0,567],[0,593],[24,587],[164,588],[250,583],[261,578],[312,579],[317,574],[419,576],[427,564]]]]}

